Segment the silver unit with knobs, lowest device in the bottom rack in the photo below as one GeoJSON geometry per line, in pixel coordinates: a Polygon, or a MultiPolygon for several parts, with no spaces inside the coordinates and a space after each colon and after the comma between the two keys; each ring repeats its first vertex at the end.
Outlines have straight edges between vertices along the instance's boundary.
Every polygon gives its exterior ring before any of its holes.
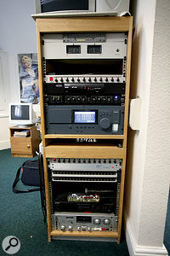
{"type": "Polygon", "coordinates": [[[117,217],[113,213],[54,212],[55,230],[61,231],[115,231],[117,217]]]}

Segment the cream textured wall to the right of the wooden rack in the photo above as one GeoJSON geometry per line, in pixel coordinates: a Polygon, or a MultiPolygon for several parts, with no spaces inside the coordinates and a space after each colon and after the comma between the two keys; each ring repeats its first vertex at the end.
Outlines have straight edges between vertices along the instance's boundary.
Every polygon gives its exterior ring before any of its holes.
{"type": "Polygon", "coordinates": [[[131,1],[131,97],[142,99],[141,129],[128,132],[124,215],[131,255],[166,255],[170,177],[170,2],[131,1]]]}

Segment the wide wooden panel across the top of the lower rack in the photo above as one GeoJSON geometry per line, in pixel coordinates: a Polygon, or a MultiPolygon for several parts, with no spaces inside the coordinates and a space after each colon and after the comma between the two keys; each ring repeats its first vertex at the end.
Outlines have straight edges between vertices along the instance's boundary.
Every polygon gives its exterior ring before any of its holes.
{"type": "Polygon", "coordinates": [[[122,159],[126,154],[126,148],[118,148],[108,145],[76,144],[49,145],[43,148],[47,158],[116,158],[122,159]]]}

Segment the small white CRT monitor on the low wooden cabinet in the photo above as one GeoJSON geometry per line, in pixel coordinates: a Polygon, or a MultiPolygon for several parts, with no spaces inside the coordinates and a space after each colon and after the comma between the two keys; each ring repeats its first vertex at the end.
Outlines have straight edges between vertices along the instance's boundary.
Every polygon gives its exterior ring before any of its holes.
{"type": "Polygon", "coordinates": [[[11,125],[32,125],[35,115],[31,103],[10,103],[9,124],[11,125]]]}

